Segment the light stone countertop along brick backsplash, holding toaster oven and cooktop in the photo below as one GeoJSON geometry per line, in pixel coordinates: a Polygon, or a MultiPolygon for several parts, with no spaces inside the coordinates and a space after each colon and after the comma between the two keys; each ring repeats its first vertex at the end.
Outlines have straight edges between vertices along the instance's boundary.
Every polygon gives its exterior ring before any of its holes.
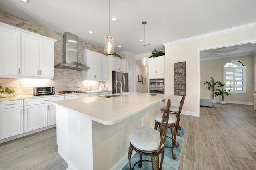
{"type": "Polygon", "coordinates": [[[96,90],[96,91],[86,91],[86,93],[69,93],[69,94],[55,93],[54,95],[39,95],[39,96],[24,95],[24,96],[0,98],[0,101],[10,101],[10,100],[20,100],[20,99],[36,99],[36,98],[41,98],[41,97],[58,97],[58,96],[66,96],[66,95],[82,95],[82,94],[88,94],[88,93],[104,93],[104,92],[109,92],[109,91],[112,91],[112,90],[106,90],[106,91],[96,90]]]}

